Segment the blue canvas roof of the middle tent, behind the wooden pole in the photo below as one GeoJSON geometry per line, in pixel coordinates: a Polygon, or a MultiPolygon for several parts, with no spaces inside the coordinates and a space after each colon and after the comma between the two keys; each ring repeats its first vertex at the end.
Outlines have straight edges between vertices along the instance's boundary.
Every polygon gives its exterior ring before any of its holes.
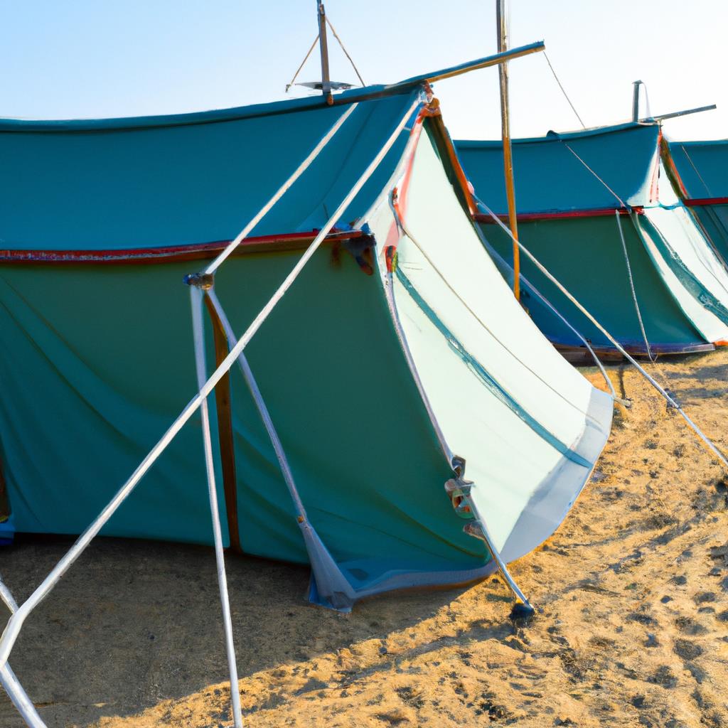
{"type": "MultiPolygon", "coordinates": [[[[518,212],[620,207],[566,144],[628,205],[649,204],[659,132],[657,124],[629,123],[513,140],[518,212]]],[[[505,213],[502,143],[456,141],[455,146],[478,197],[494,212],[505,213]]]]}

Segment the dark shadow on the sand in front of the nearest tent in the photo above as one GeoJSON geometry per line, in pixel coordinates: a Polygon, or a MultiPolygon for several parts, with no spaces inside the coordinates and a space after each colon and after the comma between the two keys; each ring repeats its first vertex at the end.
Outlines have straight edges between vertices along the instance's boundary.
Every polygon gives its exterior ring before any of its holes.
{"type": "MultiPolygon", "coordinates": [[[[71,545],[66,537],[19,537],[2,554],[2,575],[26,598],[71,545]]],[[[386,640],[427,620],[468,587],[408,590],[362,601],[352,614],[304,599],[306,566],[227,556],[240,678],[386,640]]],[[[129,716],[228,679],[213,550],[100,538],[23,627],[10,664],[48,725],[129,716]]],[[[494,591],[503,636],[510,598],[494,591]]],[[[0,697],[5,728],[22,728],[0,697]]]]}

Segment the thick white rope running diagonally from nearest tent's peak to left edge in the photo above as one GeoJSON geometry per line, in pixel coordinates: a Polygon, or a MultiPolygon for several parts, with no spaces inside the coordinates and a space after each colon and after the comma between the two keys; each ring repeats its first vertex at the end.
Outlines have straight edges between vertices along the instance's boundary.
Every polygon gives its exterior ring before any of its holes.
{"type": "Polygon", "coordinates": [[[38,606],[38,604],[48,595],[50,590],[52,590],[52,588],[58,583],[58,580],[63,577],[63,574],[68,571],[74,561],[76,561],[76,559],[79,558],[79,556],[84,552],[92,539],[98,534],[100,529],[103,528],[103,525],[108,521],[109,518],[111,518],[112,515],[114,515],[116,510],[119,508],[120,505],[122,505],[124,500],[127,498],[127,496],[129,496],[137,483],[141,480],[141,478],[143,478],[143,476],[154,464],[154,462],[157,461],[167,445],[169,445],[170,442],[175,438],[175,435],[177,435],[182,427],[184,427],[186,422],[188,422],[191,416],[197,411],[199,406],[202,404],[202,400],[205,400],[205,397],[207,397],[207,395],[209,395],[210,392],[213,391],[215,385],[218,384],[218,381],[220,381],[223,376],[226,375],[226,373],[237,360],[237,357],[240,356],[242,350],[245,349],[246,346],[248,346],[250,339],[253,338],[253,335],[256,333],[256,331],[258,331],[258,328],[261,327],[262,323],[264,323],[264,321],[269,316],[270,312],[272,312],[278,301],[280,301],[280,299],[285,295],[285,292],[288,290],[288,288],[290,288],[290,285],[293,283],[293,281],[296,280],[296,277],[301,272],[301,269],[304,268],[306,263],[320,247],[321,243],[325,240],[325,237],[328,235],[333,226],[344,213],[344,210],[349,207],[352,199],[356,197],[356,195],[364,186],[368,178],[370,178],[371,175],[374,173],[376,167],[379,166],[381,160],[384,159],[389,149],[391,149],[392,145],[395,143],[395,141],[397,141],[400,132],[402,132],[405,124],[408,122],[408,119],[413,114],[416,107],[419,106],[419,103],[419,98],[411,103],[411,106],[407,109],[399,124],[397,124],[397,127],[392,132],[392,135],[389,137],[389,139],[387,139],[387,142],[381,148],[376,157],[374,157],[371,164],[366,168],[364,173],[357,180],[357,182],[349,191],[344,200],[341,202],[339,207],[336,208],[336,212],[333,213],[331,218],[329,218],[323,229],[321,229],[311,245],[309,245],[309,248],[307,248],[304,255],[301,256],[298,264],[294,266],[293,270],[290,272],[290,274],[288,274],[288,277],[286,277],[280,287],[276,290],[270,301],[268,301],[263,309],[261,309],[261,312],[258,314],[256,319],[253,321],[253,323],[250,324],[247,331],[245,331],[245,333],[240,337],[239,341],[232,348],[229,355],[227,355],[225,359],[223,359],[220,365],[218,365],[218,368],[216,368],[215,371],[210,375],[210,378],[207,379],[205,386],[202,387],[197,395],[195,395],[189,401],[183,411],[179,414],[178,418],[175,419],[175,422],[171,424],[170,428],[167,430],[167,432],[165,432],[164,435],[162,435],[162,438],[159,440],[159,442],[154,446],[154,448],[151,449],[149,454],[147,454],[143,461],[138,465],[129,480],[127,480],[127,482],[124,483],[121,488],[119,488],[119,491],[117,491],[116,495],[111,499],[111,501],[108,502],[106,507],[104,507],[101,513],[97,516],[97,518],[95,518],[90,526],[88,526],[83,534],[79,536],[79,538],[76,540],[76,543],[74,543],[74,545],[68,550],[68,553],[66,553],[66,555],[64,555],[63,558],[58,561],[56,566],[50,571],[47,577],[45,577],[39,587],[37,587],[36,590],[31,594],[31,596],[17,609],[17,612],[15,612],[12,617],[10,617],[5,627],[2,638],[0,638],[0,669],[4,665],[6,665],[7,658],[12,650],[13,645],[15,644],[15,641],[17,641],[17,636],[20,633],[20,628],[22,628],[23,622],[25,622],[25,620],[27,619],[28,614],[30,614],[33,609],[38,606]]]}

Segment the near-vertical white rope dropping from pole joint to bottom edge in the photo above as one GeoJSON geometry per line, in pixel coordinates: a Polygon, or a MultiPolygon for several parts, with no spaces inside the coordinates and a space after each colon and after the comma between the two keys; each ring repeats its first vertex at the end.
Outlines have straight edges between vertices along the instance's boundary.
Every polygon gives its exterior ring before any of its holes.
{"type": "MultiPolygon", "coordinates": [[[[192,331],[194,333],[194,362],[197,370],[197,386],[202,389],[207,379],[205,364],[205,328],[202,323],[202,292],[194,286],[189,290],[192,306],[192,331]]],[[[205,470],[207,471],[207,491],[210,497],[210,515],[213,519],[213,537],[215,541],[215,562],[218,569],[218,587],[220,604],[223,612],[223,631],[225,633],[225,650],[230,673],[230,700],[232,702],[232,719],[234,728],[242,728],[240,711],[240,687],[237,679],[237,662],[232,634],[232,616],[230,614],[230,596],[225,571],[225,553],[223,550],[222,529],[220,526],[220,509],[218,507],[218,491],[215,486],[215,462],[213,459],[213,440],[210,435],[210,411],[207,408],[207,397],[199,405],[202,416],[202,443],[205,448],[205,470]]]]}

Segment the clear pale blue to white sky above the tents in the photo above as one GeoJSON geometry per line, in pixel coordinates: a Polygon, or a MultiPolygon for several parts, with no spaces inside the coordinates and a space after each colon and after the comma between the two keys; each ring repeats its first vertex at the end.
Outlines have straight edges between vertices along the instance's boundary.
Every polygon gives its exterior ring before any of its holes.
{"type": "MultiPolygon", "coordinates": [[[[495,52],[494,0],[325,5],[368,84],[495,52]]],[[[314,0],[0,0],[0,116],[137,116],[278,100],[316,33],[314,0]]],[[[654,114],[718,104],[666,122],[670,136],[728,137],[727,35],[726,0],[510,1],[511,45],[546,41],[587,126],[626,119],[631,82],[642,79],[654,114]]],[[[331,37],[330,47],[332,78],[355,81],[331,37]]],[[[514,136],[579,128],[540,54],[513,61],[510,76],[514,136]]],[[[316,56],[301,79],[320,79],[316,56]]],[[[435,92],[455,138],[499,136],[494,68],[435,92]]]]}

